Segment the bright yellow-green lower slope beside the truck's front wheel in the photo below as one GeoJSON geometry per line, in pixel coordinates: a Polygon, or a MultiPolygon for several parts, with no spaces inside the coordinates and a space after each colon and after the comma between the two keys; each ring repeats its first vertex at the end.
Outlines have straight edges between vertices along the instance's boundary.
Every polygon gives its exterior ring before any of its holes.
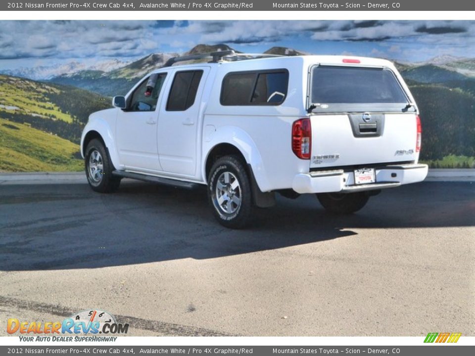
{"type": "Polygon", "coordinates": [[[0,172],[81,171],[83,167],[77,144],[0,119],[0,172]]]}

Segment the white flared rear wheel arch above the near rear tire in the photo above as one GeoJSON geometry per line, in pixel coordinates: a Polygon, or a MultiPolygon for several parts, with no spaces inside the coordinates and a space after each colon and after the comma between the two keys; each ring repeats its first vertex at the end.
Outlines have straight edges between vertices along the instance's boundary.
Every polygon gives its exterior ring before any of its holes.
{"type": "Polygon", "coordinates": [[[215,130],[206,128],[203,137],[202,177],[206,180],[206,161],[210,152],[219,144],[228,143],[242,153],[246,163],[251,166],[256,183],[262,192],[270,190],[269,180],[265,171],[262,157],[256,144],[249,134],[235,126],[222,126],[215,130]]]}

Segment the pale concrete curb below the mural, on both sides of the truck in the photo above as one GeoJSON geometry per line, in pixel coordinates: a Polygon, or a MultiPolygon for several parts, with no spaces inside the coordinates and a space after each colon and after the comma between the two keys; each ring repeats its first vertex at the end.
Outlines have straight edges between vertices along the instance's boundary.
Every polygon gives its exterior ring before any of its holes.
{"type": "MultiPolygon", "coordinates": [[[[475,182],[475,169],[429,169],[425,181],[475,182]]],[[[84,172],[0,173],[0,185],[87,184],[84,172]]]]}

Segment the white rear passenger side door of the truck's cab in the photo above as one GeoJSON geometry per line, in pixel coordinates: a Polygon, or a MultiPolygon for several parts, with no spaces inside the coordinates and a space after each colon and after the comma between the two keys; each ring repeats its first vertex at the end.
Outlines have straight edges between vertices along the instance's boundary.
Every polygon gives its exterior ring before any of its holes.
{"type": "Polygon", "coordinates": [[[160,104],[158,153],[164,172],[194,176],[197,135],[203,93],[209,67],[177,68],[170,72],[167,95],[160,104]]]}

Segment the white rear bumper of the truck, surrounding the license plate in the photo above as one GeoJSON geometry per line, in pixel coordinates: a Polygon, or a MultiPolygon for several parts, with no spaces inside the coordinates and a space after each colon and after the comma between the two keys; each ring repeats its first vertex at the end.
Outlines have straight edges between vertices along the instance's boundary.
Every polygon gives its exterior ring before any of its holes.
{"type": "Polygon", "coordinates": [[[292,189],[297,193],[352,193],[357,191],[391,188],[417,183],[427,176],[427,165],[407,164],[384,166],[376,169],[376,183],[355,185],[353,171],[333,170],[301,173],[293,178],[292,189]]]}

